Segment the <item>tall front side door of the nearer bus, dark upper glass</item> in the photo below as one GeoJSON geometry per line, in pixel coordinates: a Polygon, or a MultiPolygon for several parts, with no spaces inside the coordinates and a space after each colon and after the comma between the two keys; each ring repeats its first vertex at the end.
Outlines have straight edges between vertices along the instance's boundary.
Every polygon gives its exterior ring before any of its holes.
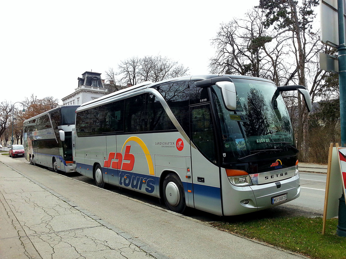
{"type": "Polygon", "coordinates": [[[196,209],[222,213],[220,168],[210,103],[190,106],[191,178],[196,209]]]}

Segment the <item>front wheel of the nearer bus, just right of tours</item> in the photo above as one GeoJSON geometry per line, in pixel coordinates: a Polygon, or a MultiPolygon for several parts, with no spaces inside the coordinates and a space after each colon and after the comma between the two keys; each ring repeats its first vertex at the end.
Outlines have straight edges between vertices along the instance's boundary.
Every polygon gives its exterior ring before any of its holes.
{"type": "Polygon", "coordinates": [[[167,175],[163,181],[163,199],[171,211],[182,213],[185,210],[184,188],[176,174],[167,175]]]}

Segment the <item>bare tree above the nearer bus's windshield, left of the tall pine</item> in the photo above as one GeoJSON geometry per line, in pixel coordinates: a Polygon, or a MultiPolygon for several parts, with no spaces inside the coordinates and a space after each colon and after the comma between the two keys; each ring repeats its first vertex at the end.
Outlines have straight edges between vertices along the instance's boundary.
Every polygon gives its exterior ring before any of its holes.
{"type": "Polygon", "coordinates": [[[287,38],[285,31],[266,29],[261,10],[254,8],[243,19],[221,25],[212,40],[217,51],[211,72],[262,77],[280,85],[287,70],[287,38]]]}

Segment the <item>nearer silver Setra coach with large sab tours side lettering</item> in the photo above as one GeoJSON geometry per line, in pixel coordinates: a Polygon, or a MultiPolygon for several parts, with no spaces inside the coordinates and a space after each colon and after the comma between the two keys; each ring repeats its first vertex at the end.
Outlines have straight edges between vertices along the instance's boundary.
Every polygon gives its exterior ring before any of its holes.
{"type": "Polygon", "coordinates": [[[76,110],[76,170],[162,199],[175,212],[254,212],[300,194],[298,150],[280,92],[266,79],[185,76],[145,82],[76,110]]]}

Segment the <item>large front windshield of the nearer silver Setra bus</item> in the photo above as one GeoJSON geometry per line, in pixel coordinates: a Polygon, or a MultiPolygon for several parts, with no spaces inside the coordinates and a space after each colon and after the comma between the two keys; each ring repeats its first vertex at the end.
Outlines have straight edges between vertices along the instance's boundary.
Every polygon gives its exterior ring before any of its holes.
{"type": "Polygon", "coordinates": [[[228,111],[221,91],[212,86],[212,98],[221,132],[224,163],[258,161],[298,153],[285,103],[268,81],[232,78],[237,108],[228,111]],[[280,154],[280,152],[282,152],[280,154]]]}

